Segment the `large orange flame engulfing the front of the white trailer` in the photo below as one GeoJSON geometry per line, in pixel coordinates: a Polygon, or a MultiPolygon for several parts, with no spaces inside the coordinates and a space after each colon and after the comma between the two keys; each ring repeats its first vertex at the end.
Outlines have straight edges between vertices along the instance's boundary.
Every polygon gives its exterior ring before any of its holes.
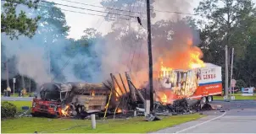
{"type": "MultiPolygon", "coordinates": [[[[166,52],[166,51],[165,51],[166,52]]],[[[190,71],[190,75],[186,73],[189,70],[194,70],[199,67],[205,67],[201,60],[203,56],[202,51],[197,46],[192,46],[192,40],[187,40],[186,48],[179,51],[172,51],[172,54],[159,58],[160,78],[163,78],[165,86],[170,84],[172,90],[159,90],[159,101],[167,104],[173,100],[172,94],[176,94],[178,98],[183,98],[192,95],[197,88],[196,72],[190,71]],[[175,70],[183,70],[182,73],[176,73],[175,70]],[[192,74],[192,75],[191,75],[192,74]],[[182,75],[182,76],[181,76],[182,75]],[[179,76],[179,77],[178,77],[179,76]],[[179,81],[177,78],[180,78],[179,81]],[[172,83],[170,83],[170,81],[172,83]]],[[[194,70],[196,71],[196,70],[194,70]]],[[[170,88],[170,87],[169,87],[170,88]]]]}

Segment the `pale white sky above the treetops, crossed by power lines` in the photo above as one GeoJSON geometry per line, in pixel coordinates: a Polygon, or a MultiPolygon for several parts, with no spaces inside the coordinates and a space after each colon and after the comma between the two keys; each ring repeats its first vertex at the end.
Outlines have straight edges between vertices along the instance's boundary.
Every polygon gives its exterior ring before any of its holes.
{"type": "MultiPolygon", "coordinates": [[[[70,6],[75,6],[75,7],[81,7],[81,8],[90,8],[93,10],[101,10],[103,11],[103,8],[97,8],[97,7],[92,7],[92,6],[86,6],[86,5],[81,5],[79,3],[86,3],[86,4],[91,4],[91,5],[96,5],[96,6],[102,6],[100,4],[100,2],[102,0],[68,0],[68,1],[72,1],[72,2],[77,2],[77,3],[70,3],[70,2],[66,2],[65,0],[48,0],[49,2],[54,2],[54,3],[61,3],[61,4],[66,4],[66,5],[70,5],[70,6]]],[[[146,1],[146,0],[144,0],[146,1]]],[[[184,7],[186,7],[186,9],[182,9],[182,13],[193,13],[193,8],[198,7],[198,3],[200,0],[191,0],[188,1],[189,3],[187,3],[187,0],[155,0],[156,2],[154,3],[155,7],[154,9],[159,9],[162,11],[176,11],[176,10],[181,10],[181,7],[172,7],[169,8],[168,6],[164,5],[164,1],[172,1],[172,3],[174,4],[178,4],[179,5],[184,5],[184,7]]],[[[170,3],[170,4],[172,4],[170,3]]],[[[256,0],[253,0],[253,3],[256,3],[256,0]]],[[[172,5],[170,5],[172,6],[172,5]]],[[[81,35],[83,35],[83,31],[86,28],[94,28],[97,29],[98,31],[102,32],[103,35],[107,34],[110,30],[110,23],[104,21],[103,17],[100,16],[94,16],[94,15],[89,15],[89,14],[83,14],[83,13],[94,13],[94,14],[104,14],[104,13],[96,13],[96,12],[92,12],[92,11],[86,11],[83,9],[78,9],[78,8],[70,8],[70,7],[63,7],[63,6],[58,6],[59,8],[62,8],[64,10],[75,10],[78,12],[82,12],[82,13],[72,13],[70,11],[64,11],[65,16],[66,16],[66,20],[68,25],[70,25],[70,35],[69,38],[74,38],[74,39],[80,39],[81,35]]],[[[146,12],[146,9],[145,9],[146,12]]],[[[166,17],[166,15],[170,15],[166,14],[166,13],[157,13],[157,17],[156,19],[163,19],[166,17]]],[[[173,14],[172,14],[173,15],[173,14]]]]}

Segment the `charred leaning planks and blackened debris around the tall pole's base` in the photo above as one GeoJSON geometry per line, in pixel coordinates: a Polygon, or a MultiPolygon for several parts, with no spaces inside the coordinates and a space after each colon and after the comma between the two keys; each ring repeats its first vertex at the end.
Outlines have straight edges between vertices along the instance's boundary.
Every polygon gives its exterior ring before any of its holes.
{"type": "MultiPolygon", "coordinates": [[[[131,78],[127,72],[125,77],[127,80],[128,89],[125,87],[123,78],[120,75],[118,83],[117,78],[110,74],[111,80],[103,82],[107,88],[111,89],[112,94],[117,94],[119,99],[111,100],[111,106],[107,107],[106,118],[129,118],[131,116],[144,116],[145,115],[145,101],[149,99],[149,90],[147,88],[136,88],[131,82],[131,78]],[[119,89],[124,88],[120,94],[116,91],[117,86],[119,89]],[[123,93],[124,92],[124,93],[123,93]],[[115,103],[115,104],[114,104],[115,103]]],[[[109,95],[110,96],[110,95],[109,95]]],[[[113,98],[113,97],[111,97],[113,98]]],[[[213,110],[211,105],[203,105],[201,100],[198,99],[177,99],[172,104],[163,104],[161,102],[154,102],[153,113],[146,116],[147,121],[160,120],[159,115],[187,115],[203,110],[213,110]]],[[[99,116],[103,116],[99,114],[99,116]]]]}

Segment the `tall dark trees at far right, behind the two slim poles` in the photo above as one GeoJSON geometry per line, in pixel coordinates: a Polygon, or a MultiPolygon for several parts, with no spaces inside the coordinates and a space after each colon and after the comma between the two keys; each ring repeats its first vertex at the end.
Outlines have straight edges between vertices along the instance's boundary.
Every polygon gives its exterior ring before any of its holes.
{"type": "MultiPolygon", "coordinates": [[[[255,83],[253,53],[256,52],[253,39],[255,33],[255,8],[251,0],[203,0],[196,13],[207,19],[203,27],[200,44],[204,62],[225,67],[225,45],[235,48],[234,73],[236,79],[247,84],[255,83]]],[[[205,22],[204,22],[205,23],[205,22]]],[[[223,78],[224,78],[224,69],[223,78]]]]}

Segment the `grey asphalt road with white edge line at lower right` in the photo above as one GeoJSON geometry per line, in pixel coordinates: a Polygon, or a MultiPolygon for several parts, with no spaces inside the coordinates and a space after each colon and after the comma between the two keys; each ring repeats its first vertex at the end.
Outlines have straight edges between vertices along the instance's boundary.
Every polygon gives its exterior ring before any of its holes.
{"type": "Polygon", "coordinates": [[[215,101],[214,108],[222,110],[203,112],[207,115],[198,121],[190,121],[153,133],[256,133],[256,101],[215,101]]]}

